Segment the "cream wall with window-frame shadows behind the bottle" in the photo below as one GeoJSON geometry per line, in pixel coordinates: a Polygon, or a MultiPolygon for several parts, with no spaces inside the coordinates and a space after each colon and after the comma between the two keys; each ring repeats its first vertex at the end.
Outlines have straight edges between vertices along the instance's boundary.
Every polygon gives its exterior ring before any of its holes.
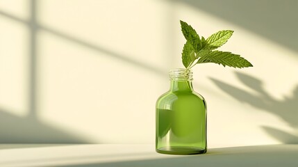
{"type": "Polygon", "coordinates": [[[254,67],[194,67],[208,145],[298,143],[297,1],[0,1],[1,143],[154,143],[179,19],[254,67]],[[296,15],[295,15],[296,14],[296,15]]]}

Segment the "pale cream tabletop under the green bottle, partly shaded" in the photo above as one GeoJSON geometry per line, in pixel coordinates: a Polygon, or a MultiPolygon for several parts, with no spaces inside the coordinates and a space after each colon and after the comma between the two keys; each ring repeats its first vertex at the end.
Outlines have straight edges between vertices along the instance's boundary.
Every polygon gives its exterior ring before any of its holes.
{"type": "Polygon", "coordinates": [[[158,154],[150,144],[0,145],[0,166],[298,166],[298,145],[212,148],[206,154],[158,154]]]}

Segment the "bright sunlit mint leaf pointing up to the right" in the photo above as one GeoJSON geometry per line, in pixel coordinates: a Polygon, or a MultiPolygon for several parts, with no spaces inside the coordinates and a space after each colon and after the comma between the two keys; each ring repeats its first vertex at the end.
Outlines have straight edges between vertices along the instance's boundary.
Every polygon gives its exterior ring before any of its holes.
{"type": "Polygon", "coordinates": [[[211,49],[216,49],[217,47],[224,45],[233,32],[234,31],[231,30],[218,31],[217,33],[213,33],[213,35],[210,35],[210,37],[207,38],[207,42],[211,46],[211,49]]]}

